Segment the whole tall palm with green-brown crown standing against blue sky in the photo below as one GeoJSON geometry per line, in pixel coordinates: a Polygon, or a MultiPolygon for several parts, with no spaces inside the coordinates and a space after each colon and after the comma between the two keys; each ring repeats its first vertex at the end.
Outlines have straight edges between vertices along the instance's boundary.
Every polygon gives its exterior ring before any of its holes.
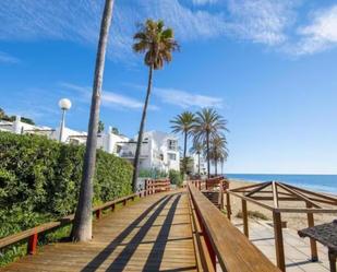
{"type": "Polygon", "coordinates": [[[140,32],[137,32],[133,38],[135,40],[135,44],[133,45],[133,50],[135,52],[145,54],[144,62],[148,67],[147,92],[133,164],[134,170],[132,178],[132,187],[133,190],[136,191],[140,153],[143,141],[143,131],[146,119],[147,105],[152,91],[153,71],[161,69],[164,67],[164,62],[170,62],[172,60],[172,51],[178,49],[178,43],[174,40],[173,31],[171,28],[165,28],[164,22],[160,20],[158,22],[155,22],[151,19],[146,20],[146,22],[141,25],[140,32]]]}

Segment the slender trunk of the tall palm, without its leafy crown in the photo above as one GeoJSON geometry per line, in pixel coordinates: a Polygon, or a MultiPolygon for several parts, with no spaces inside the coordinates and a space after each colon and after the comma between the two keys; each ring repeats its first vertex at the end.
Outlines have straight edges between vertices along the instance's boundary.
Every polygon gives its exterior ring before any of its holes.
{"type": "Polygon", "coordinates": [[[146,120],[146,111],[147,111],[147,105],[148,105],[148,99],[151,95],[151,90],[152,90],[152,84],[153,84],[153,71],[154,71],[154,66],[152,64],[149,67],[149,72],[148,72],[148,83],[147,83],[147,92],[146,92],[146,98],[145,98],[145,104],[143,108],[143,115],[142,115],[142,120],[141,120],[141,126],[140,126],[140,131],[139,131],[139,139],[137,139],[137,145],[135,150],[135,156],[134,156],[134,162],[133,162],[133,177],[132,177],[132,189],[134,192],[136,192],[137,188],[137,177],[140,173],[140,155],[141,155],[141,149],[142,149],[142,142],[143,142],[143,132],[144,132],[144,125],[146,120]]]}

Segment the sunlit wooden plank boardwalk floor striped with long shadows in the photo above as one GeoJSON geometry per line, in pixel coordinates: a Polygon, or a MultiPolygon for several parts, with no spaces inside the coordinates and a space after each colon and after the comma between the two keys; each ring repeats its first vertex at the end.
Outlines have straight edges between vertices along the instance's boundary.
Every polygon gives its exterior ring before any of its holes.
{"type": "Polygon", "coordinates": [[[94,223],[86,244],[58,243],[0,271],[196,271],[185,192],[141,199],[94,223]]]}

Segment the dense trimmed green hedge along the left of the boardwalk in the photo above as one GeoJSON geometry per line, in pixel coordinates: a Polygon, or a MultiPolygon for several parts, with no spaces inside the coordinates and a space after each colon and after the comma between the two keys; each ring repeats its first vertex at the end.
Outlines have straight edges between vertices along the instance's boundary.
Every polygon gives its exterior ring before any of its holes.
{"type": "MultiPolygon", "coordinates": [[[[0,132],[0,237],[75,210],[84,146],[0,132]]],[[[97,151],[94,203],[127,196],[132,166],[97,151]]]]}

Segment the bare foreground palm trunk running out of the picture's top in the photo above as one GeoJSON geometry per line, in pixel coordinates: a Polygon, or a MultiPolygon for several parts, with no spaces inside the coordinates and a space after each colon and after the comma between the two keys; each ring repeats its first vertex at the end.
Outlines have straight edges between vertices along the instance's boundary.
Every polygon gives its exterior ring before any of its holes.
{"type": "Polygon", "coordinates": [[[88,133],[84,155],[83,173],[80,188],[80,198],[76,206],[72,238],[79,241],[92,239],[92,202],[93,202],[93,177],[96,164],[97,131],[99,121],[99,105],[105,67],[106,49],[111,25],[113,0],[106,0],[100,23],[94,86],[91,106],[88,133]]]}

